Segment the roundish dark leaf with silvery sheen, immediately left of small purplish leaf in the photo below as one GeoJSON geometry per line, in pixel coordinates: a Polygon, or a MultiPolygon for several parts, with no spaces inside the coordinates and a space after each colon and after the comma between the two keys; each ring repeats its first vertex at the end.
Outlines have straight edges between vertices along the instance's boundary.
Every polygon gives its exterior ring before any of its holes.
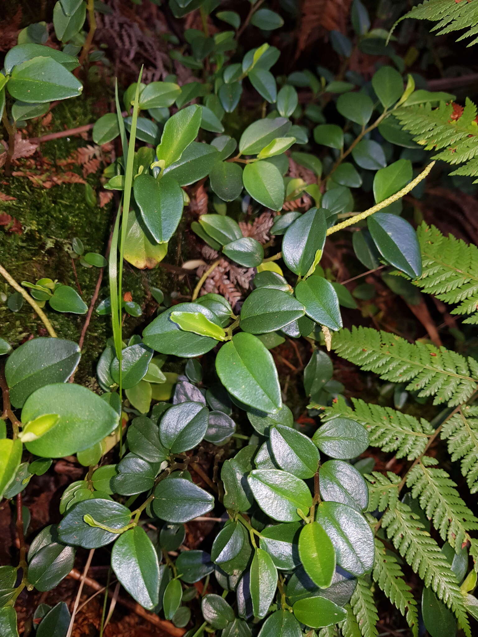
{"type": "Polygon", "coordinates": [[[174,454],[189,451],[203,440],[208,410],[201,403],[179,403],[166,410],[159,423],[159,439],[174,454]]]}

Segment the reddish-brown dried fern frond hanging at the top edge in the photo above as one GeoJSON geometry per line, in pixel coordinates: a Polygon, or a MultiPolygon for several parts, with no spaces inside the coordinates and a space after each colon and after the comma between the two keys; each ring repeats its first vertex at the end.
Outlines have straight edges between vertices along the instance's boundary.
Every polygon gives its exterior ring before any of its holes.
{"type": "Polygon", "coordinates": [[[351,0],[303,0],[295,59],[327,31],[345,31],[351,0]]]}

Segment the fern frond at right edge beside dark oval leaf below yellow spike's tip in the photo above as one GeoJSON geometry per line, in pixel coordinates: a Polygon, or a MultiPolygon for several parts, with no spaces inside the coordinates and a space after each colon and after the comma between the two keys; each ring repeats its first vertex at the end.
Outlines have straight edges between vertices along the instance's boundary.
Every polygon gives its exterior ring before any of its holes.
{"type": "Polygon", "coordinates": [[[440,301],[456,304],[451,313],[471,314],[464,322],[476,324],[478,248],[456,239],[452,234],[444,236],[434,225],[421,224],[417,238],[423,273],[412,283],[440,301]]]}

